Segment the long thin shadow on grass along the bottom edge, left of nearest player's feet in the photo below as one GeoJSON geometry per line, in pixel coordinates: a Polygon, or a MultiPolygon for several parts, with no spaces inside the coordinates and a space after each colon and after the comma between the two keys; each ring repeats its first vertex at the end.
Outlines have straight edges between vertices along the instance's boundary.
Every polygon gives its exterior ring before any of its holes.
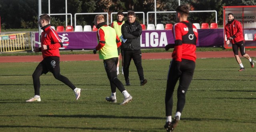
{"type": "MultiPolygon", "coordinates": [[[[86,126],[86,124],[84,125],[86,126]]],[[[65,126],[24,126],[24,125],[20,125],[20,126],[14,126],[14,125],[0,125],[0,128],[54,128],[54,130],[57,130],[57,129],[81,129],[81,130],[94,130],[94,131],[109,131],[109,130],[113,130],[113,131],[123,131],[123,132],[128,132],[128,131],[131,131],[131,132],[148,132],[148,130],[136,130],[136,129],[129,129],[129,128],[100,128],[99,127],[65,127],[65,126]]],[[[151,129],[152,130],[152,129],[151,129]]],[[[155,128],[153,129],[153,131],[156,131],[156,130],[159,130],[158,128],[155,128]]],[[[161,129],[162,130],[162,129],[161,129]]]]}

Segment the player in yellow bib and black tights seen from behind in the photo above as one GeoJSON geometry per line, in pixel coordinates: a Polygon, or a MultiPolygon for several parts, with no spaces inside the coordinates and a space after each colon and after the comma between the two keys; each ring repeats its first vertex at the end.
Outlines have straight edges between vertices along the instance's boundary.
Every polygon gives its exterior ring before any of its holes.
{"type": "Polygon", "coordinates": [[[94,25],[98,28],[97,40],[98,45],[93,49],[93,53],[99,50],[99,57],[103,60],[108,80],[111,87],[111,96],[106,97],[106,101],[116,102],[116,87],[124,95],[124,100],[121,105],[132,101],[132,96],[126,91],[124,85],[117,78],[116,64],[118,62],[117,48],[121,45],[119,37],[114,28],[111,28],[105,23],[104,15],[96,15],[94,25]]]}

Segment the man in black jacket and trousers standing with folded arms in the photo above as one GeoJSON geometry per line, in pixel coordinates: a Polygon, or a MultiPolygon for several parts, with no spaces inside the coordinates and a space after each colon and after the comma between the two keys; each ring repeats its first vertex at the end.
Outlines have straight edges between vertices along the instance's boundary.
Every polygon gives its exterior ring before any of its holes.
{"type": "Polygon", "coordinates": [[[136,14],[134,11],[128,11],[127,16],[128,18],[121,28],[123,38],[127,39],[125,42],[123,41],[124,43],[122,45],[124,55],[124,78],[126,85],[130,85],[129,67],[131,60],[133,60],[140,77],[140,85],[143,86],[147,83],[147,80],[144,78],[141,64],[140,35],[142,33],[142,27],[140,23],[135,21],[136,14]]]}

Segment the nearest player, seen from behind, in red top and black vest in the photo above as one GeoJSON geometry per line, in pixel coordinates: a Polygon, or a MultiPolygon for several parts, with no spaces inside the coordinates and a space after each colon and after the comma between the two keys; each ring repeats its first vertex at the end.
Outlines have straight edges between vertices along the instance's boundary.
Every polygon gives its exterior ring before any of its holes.
{"type": "Polygon", "coordinates": [[[172,61],[167,77],[165,106],[166,106],[166,124],[164,128],[171,132],[180,120],[182,110],[185,106],[186,92],[192,80],[195,62],[196,62],[196,42],[198,41],[198,32],[196,27],[187,21],[189,7],[181,5],[176,8],[176,21],[173,27],[175,44],[168,44],[168,47],[174,45],[172,61]],[[172,121],[173,92],[177,81],[179,80],[177,92],[177,109],[174,120],[172,121]]]}

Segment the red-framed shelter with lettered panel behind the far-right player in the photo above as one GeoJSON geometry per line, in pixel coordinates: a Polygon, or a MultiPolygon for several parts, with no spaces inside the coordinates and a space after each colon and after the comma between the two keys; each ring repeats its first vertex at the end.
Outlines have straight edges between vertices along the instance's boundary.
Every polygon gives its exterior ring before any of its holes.
{"type": "Polygon", "coordinates": [[[225,25],[228,23],[228,13],[233,13],[234,19],[241,22],[246,48],[256,48],[256,6],[223,6],[224,48],[232,48],[226,44],[225,25]]]}

